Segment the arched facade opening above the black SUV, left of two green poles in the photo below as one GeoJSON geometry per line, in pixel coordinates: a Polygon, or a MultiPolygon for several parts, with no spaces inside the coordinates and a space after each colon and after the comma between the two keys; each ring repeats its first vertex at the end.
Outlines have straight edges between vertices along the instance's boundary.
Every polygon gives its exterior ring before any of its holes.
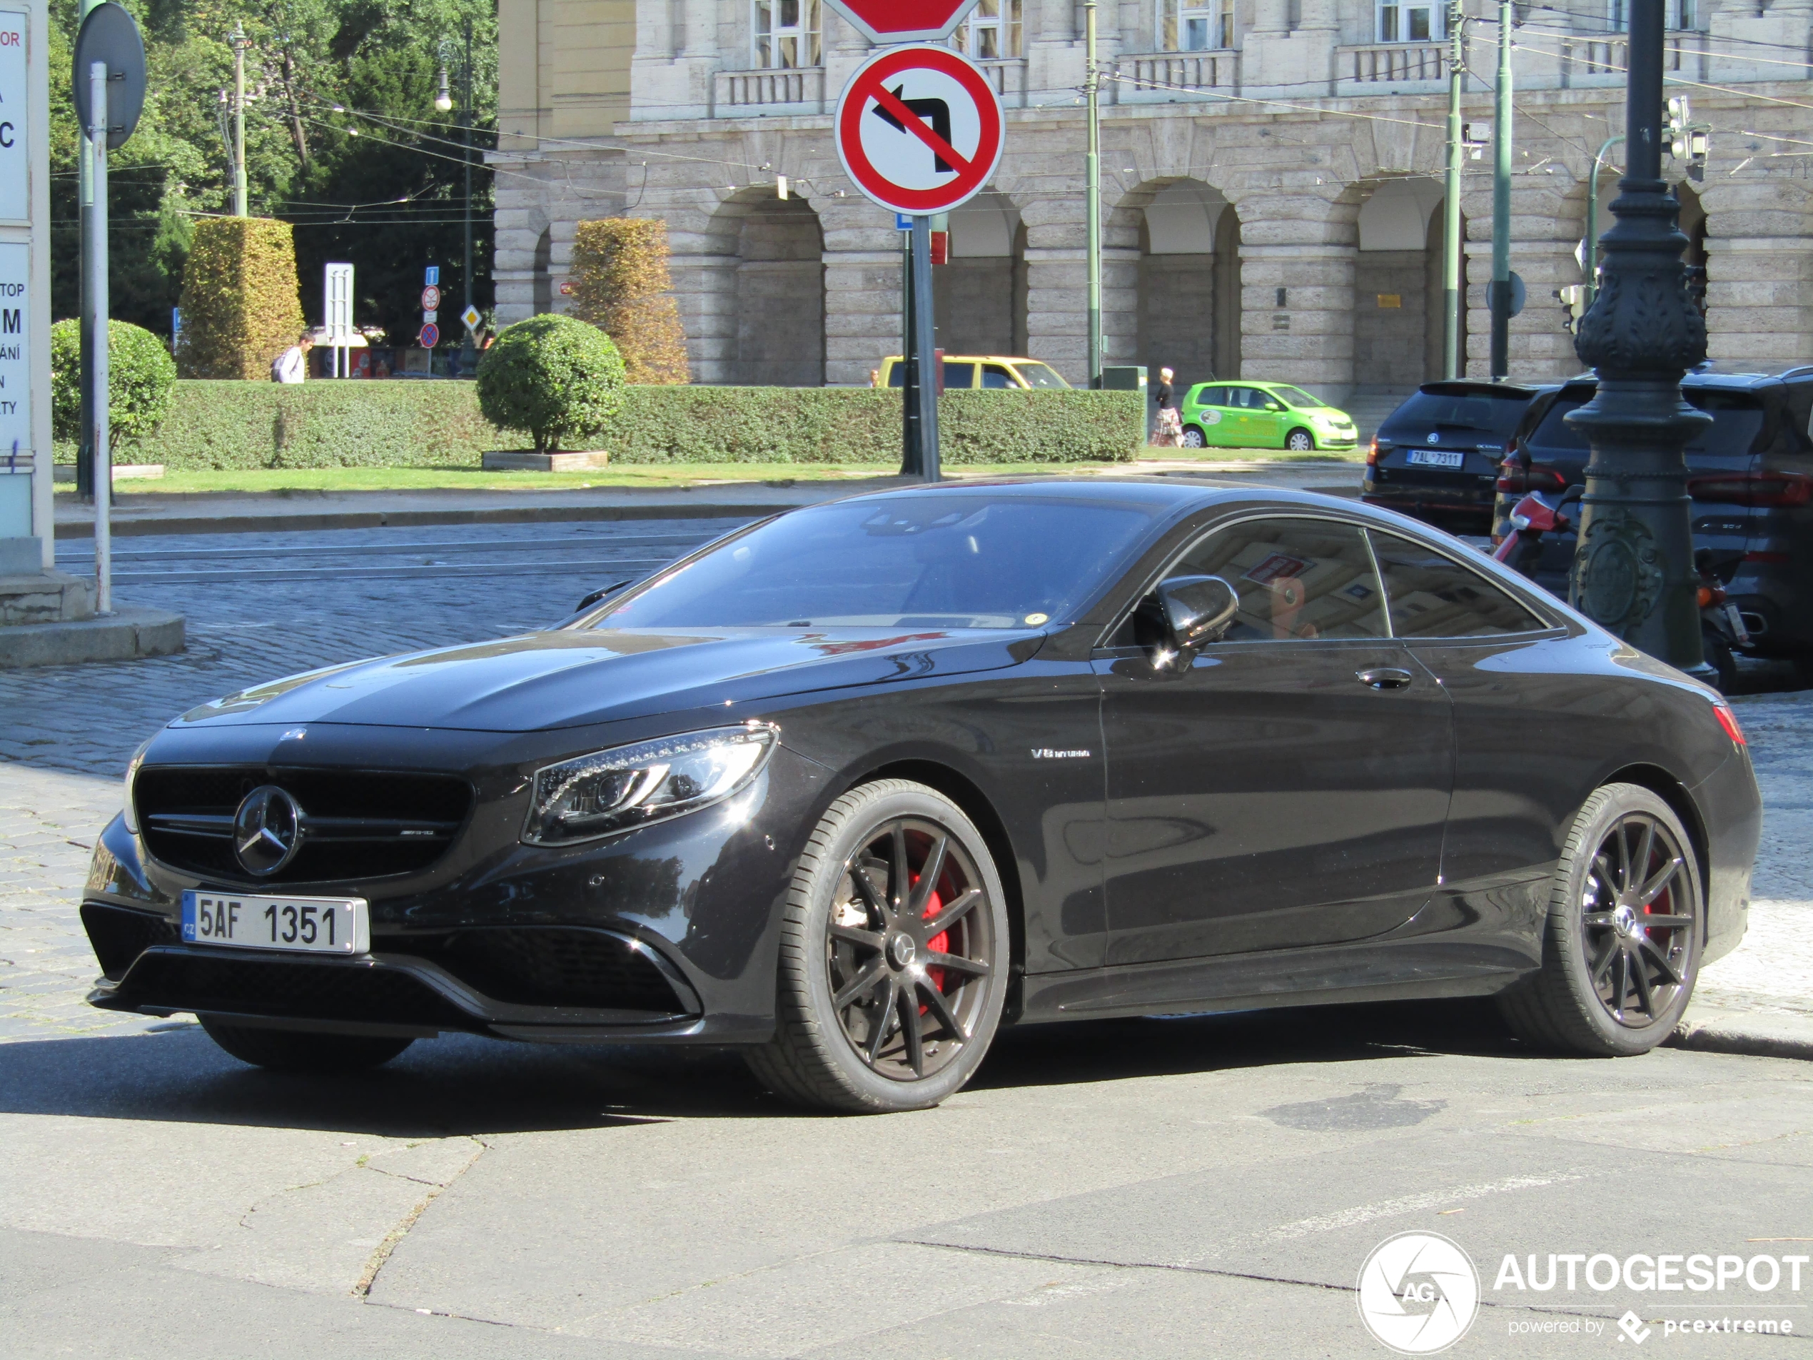
{"type": "MultiPolygon", "coordinates": [[[[1392,395],[1441,377],[1441,185],[1429,178],[1385,180],[1360,207],[1354,388],[1362,393],[1392,395]]],[[[1463,355],[1465,325],[1463,306],[1463,355]]]]}

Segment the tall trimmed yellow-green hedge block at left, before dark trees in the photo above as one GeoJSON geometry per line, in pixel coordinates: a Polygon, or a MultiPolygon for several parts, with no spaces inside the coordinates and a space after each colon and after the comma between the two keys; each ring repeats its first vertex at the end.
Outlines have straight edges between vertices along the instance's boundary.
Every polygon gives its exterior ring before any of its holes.
{"type": "Polygon", "coordinates": [[[183,274],[183,377],[268,379],[303,328],[296,239],[286,221],[201,218],[183,274]]]}

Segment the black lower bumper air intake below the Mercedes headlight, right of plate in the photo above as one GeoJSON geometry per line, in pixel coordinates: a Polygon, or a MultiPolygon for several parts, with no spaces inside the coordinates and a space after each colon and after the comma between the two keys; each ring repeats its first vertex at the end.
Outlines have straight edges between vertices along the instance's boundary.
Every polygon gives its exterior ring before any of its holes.
{"type": "Polygon", "coordinates": [[[517,1006],[685,1012],[662,970],[629,941],[584,927],[486,927],[395,948],[431,959],[468,986],[517,1006]]]}

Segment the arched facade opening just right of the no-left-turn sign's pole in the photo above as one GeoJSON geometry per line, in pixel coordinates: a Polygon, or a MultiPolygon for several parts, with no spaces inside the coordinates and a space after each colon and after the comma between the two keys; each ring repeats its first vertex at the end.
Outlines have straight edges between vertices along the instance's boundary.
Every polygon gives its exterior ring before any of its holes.
{"type": "Polygon", "coordinates": [[[1026,354],[1026,223],[1006,194],[986,189],[952,210],[932,314],[945,354],[1026,354]]]}

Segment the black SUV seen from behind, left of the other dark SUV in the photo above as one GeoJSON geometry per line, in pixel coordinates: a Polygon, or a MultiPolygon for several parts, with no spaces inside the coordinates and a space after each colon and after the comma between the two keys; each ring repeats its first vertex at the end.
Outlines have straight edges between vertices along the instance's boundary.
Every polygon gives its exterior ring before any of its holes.
{"type": "Polygon", "coordinates": [[[1423,383],[1380,423],[1360,499],[1454,533],[1487,533],[1498,464],[1537,392],[1517,383],[1423,383]]]}

